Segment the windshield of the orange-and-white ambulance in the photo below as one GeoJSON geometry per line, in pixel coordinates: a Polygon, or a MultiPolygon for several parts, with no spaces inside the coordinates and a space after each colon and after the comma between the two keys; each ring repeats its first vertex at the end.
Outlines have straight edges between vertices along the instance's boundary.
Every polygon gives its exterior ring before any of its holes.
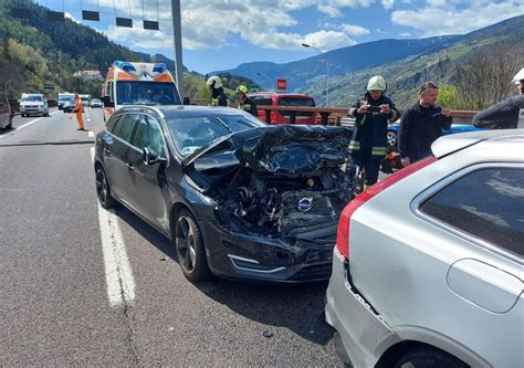
{"type": "Polygon", "coordinates": [[[118,105],[180,105],[175,83],[122,81],[116,83],[118,105]]]}

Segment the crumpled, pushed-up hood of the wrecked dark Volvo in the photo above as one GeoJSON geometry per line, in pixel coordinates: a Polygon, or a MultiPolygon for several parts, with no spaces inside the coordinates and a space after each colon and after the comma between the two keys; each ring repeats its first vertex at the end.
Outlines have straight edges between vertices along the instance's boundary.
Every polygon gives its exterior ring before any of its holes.
{"type": "Polygon", "coordinates": [[[303,172],[344,164],[353,132],[345,127],[279,125],[224,136],[182,161],[196,169],[241,165],[258,172],[303,172]],[[198,164],[198,165],[197,165],[198,164]]]}

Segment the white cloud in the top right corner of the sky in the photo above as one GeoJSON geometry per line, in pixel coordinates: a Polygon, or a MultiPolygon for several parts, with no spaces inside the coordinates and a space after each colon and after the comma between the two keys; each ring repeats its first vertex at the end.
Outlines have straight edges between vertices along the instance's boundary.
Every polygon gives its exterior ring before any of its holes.
{"type": "Polygon", "coordinates": [[[450,2],[443,8],[439,4],[420,10],[397,10],[391,13],[391,21],[421,30],[423,36],[431,36],[468,33],[524,13],[522,0],[501,3],[484,0],[464,1],[469,4],[468,8],[458,7],[457,3],[450,2]]]}

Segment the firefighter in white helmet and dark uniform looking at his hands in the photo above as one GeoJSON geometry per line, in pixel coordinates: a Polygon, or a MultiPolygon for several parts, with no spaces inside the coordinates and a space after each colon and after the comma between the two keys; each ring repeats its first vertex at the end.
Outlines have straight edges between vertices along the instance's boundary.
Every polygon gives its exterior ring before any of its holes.
{"type": "Polygon", "coordinates": [[[355,118],[349,151],[354,162],[364,169],[365,189],[378,180],[380,161],[387,155],[388,120],[395,122],[399,115],[395,104],[386,97],[386,80],[375,75],[367,84],[364,98],[349,108],[349,116],[355,118]]]}

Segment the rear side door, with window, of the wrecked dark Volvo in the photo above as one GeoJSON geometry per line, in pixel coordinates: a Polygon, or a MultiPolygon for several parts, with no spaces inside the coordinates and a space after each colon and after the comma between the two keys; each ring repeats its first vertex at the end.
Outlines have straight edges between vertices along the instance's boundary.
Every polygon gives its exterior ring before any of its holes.
{"type": "MultiPolygon", "coordinates": [[[[111,134],[104,136],[104,167],[111,185],[112,193],[124,202],[128,202],[126,180],[132,170],[128,164],[130,139],[138,114],[124,114],[118,117],[111,134]]],[[[109,122],[111,123],[111,122],[109,122]]]]}

